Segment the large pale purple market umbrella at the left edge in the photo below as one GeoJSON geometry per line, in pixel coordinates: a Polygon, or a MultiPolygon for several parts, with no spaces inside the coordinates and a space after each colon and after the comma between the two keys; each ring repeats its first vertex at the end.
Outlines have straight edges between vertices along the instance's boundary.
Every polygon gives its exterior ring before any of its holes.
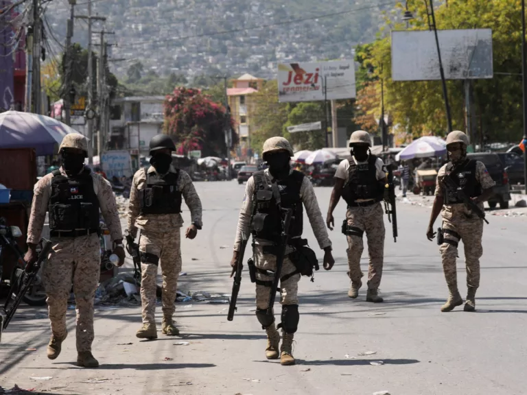
{"type": "Polygon", "coordinates": [[[19,111],[0,114],[0,148],[34,148],[36,156],[54,155],[69,133],[78,132],[45,115],[19,111]]]}

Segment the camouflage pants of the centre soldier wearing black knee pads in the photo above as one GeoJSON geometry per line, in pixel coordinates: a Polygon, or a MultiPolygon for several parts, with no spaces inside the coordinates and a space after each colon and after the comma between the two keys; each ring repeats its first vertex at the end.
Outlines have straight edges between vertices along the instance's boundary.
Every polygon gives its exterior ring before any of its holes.
{"type": "MultiPolygon", "coordinates": [[[[264,254],[261,246],[255,246],[255,266],[263,270],[277,269],[277,256],[272,254],[264,254]]],[[[281,277],[290,274],[296,270],[292,261],[285,256],[283,259],[281,277]]],[[[272,277],[266,276],[256,272],[256,278],[262,281],[271,281],[272,277]]],[[[300,274],[288,278],[280,283],[281,289],[281,304],[298,304],[298,281],[300,274]]],[[[267,309],[269,305],[269,287],[264,285],[256,285],[256,307],[258,309],[267,309]]]]}

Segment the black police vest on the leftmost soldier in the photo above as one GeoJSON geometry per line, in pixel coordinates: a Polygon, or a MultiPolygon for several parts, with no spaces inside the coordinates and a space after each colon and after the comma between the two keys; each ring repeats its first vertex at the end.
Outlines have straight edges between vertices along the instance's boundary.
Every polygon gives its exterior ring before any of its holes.
{"type": "Polygon", "coordinates": [[[54,170],[49,199],[49,230],[99,231],[99,199],[93,189],[91,170],[84,170],[74,178],[62,176],[54,170]]]}

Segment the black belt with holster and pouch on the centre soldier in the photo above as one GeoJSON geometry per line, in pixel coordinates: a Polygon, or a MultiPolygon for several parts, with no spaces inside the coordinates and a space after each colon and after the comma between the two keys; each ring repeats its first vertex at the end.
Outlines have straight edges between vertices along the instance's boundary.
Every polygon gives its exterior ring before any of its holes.
{"type": "MultiPolygon", "coordinates": [[[[285,276],[281,276],[281,283],[283,283],[285,280],[288,280],[292,276],[295,276],[296,274],[311,277],[311,280],[313,282],[314,271],[318,271],[320,267],[318,265],[318,260],[316,259],[315,252],[307,246],[307,239],[290,239],[288,245],[292,246],[295,250],[293,252],[290,252],[290,254],[285,255],[284,259],[286,256],[289,257],[294,267],[296,267],[296,270],[289,274],[285,274],[285,276]]],[[[280,246],[262,246],[262,251],[264,252],[264,254],[271,254],[277,256],[279,254],[280,248],[280,246]]],[[[272,280],[259,280],[258,278],[256,278],[256,274],[259,273],[264,276],[272,277],[275,275],[275,272],[273,272],[272,270],[265,270],[256,267],[254,259],[249,259],[247,265],[249,267],[249,276],[251,283],[263,285],[264,287],[272,287],[272,280]]]]}

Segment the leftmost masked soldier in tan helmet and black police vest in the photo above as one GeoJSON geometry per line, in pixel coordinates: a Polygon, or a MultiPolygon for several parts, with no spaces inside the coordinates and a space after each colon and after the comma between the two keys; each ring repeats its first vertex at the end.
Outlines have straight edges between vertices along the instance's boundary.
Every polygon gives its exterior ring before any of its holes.
{"type": "Polygon", "coordinates": [[[101,252],[99,209],[113,239],[113,250],[124,263],[121,222],[110,183],[84,167],[88,145],[82,134],[67,134],[59,148],[62,167],[41,178],[34,187],[25,261],[36,261],[36,245],[49,211],[49,235],[53,243],[43,267],[43,283],[51,320],[47,357],[56,359],[66,339],[66,312],[73,283],[77,304],[77,364],[99,366],[91,354],[93,342],[93,298],[99,283],[101,252]]]}

